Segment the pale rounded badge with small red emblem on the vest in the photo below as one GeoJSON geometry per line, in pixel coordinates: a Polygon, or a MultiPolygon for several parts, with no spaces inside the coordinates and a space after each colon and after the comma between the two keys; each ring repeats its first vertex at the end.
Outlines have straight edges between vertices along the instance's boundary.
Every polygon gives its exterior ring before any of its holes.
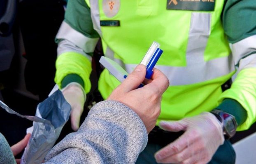
{"type": "Polygon", "coordinates": [[[120,0],[103,0],[102,9],[107,17],[112,18],[120,9],[120,0]]]}

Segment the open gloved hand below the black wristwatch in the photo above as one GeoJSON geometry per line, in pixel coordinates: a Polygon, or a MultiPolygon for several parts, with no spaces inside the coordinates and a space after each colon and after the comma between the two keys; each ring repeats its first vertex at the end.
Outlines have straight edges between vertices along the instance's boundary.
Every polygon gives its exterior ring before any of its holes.
{"type": "Polygon", "coordinates": [[[184,134],[155,154],[158,163],[206,164],[224,143],[221,123],[210,112],[180,121],[161,121],[159,126],[171,132],[183,130],[184,134]]]}

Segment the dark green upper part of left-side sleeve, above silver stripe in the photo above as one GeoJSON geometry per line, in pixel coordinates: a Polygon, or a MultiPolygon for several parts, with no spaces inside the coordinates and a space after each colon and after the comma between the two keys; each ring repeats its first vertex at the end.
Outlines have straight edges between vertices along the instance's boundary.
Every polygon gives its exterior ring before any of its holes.
{"type": "Polygon", "coordinates": [[[99,34],[93,29],[91,9],[84,0],[68,1],[64,21],[88,38],[99,37],[99,34]]]}

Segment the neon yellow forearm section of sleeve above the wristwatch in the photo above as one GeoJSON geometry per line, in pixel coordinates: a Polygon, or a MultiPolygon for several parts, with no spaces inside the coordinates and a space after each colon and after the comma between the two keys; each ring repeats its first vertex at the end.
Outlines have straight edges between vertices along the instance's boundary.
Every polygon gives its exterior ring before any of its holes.
{"type": "Polygon", "coordinates": [[[256,121],[256,68],[246,68],[238,73],[230,89],[221,94],[219,102],[224,98],[237,100],[247,111],[247,120],[237,131],[247,130],[256,121]]]}

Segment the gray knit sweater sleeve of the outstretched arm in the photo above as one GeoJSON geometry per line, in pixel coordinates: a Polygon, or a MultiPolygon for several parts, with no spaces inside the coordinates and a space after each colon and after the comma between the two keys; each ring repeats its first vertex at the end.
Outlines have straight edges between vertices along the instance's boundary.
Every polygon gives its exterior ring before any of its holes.
{"type": "Polygon", "coordinates": [[[117,101],[97,103],[77,132],[68,134],[45,158],[47,164],[134,164],[147,145],[140,117],[117,101]]]}

